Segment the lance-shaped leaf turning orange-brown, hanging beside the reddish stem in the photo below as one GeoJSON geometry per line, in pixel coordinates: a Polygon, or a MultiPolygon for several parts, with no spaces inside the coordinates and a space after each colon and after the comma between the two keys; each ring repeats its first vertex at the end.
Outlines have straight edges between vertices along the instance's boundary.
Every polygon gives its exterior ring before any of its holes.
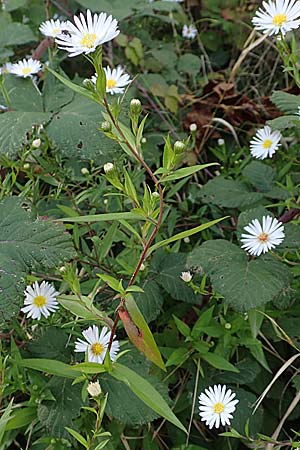
{"type": "Polygon", "coordinates": [[[133,345],[150,361],[166,370],[154,337],[132,295],[126,296],[125,307],[119,308],[119,316],[133,345]]]}

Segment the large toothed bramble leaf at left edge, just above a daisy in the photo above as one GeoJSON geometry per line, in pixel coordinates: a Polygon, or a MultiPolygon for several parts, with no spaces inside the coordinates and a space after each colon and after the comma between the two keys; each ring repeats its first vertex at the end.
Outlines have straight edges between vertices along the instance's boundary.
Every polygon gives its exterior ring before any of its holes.
{"type": "Polygon", "coordinates": [[[60,224],[34,219],[21,205],[18,197],[0,202],[0,323],[19,311],[26,273],[56,267],[74,251],[60,224]]]}

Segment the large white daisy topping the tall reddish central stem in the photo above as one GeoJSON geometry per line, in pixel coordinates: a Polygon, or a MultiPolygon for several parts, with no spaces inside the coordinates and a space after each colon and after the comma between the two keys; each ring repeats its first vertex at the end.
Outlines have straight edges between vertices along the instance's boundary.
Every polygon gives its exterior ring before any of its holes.
{"type": "Polygon", "coordinates": [[[106,13],[94,14],[87,10],[87,18],[80,13],[74,16],[75,25],[69,20],[66,22],[67,34],[61,34],[55,42],[58,48],[69,52],[69,56],[77,56],[81,53],[88,55],[105,42],[114,39],[120,31],[118,21],[106,13]]]}

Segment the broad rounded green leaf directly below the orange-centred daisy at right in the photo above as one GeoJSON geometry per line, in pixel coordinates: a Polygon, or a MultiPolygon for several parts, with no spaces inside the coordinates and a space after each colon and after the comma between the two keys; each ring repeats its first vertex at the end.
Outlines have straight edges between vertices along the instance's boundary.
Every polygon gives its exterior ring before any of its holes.
{"type": "MultiPolygon", "coordinates": [[[[188,260],[210,276],[213,288],[237,311],[257,308],[290,290],[289,270],[270,255],[249,260],[247,253],[231,242],[204,242],[188,260]]],[[[283,301],[283,300],[282,300],[283,301]]]]}

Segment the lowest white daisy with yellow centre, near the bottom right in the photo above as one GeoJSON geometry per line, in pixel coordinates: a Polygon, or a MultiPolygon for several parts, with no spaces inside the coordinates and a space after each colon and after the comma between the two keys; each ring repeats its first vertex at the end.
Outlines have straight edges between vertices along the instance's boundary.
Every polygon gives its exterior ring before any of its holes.
{"type": "Polygon", "coordinates": [[[219,428],[220,424],[230,425],[232,413],[235,411],[235,405],[239,400],[233,400],[235,393],[226,386],[214,385],[205,389],[199,396],[199,415],[201,420],[211,429],[219,428]]]}

